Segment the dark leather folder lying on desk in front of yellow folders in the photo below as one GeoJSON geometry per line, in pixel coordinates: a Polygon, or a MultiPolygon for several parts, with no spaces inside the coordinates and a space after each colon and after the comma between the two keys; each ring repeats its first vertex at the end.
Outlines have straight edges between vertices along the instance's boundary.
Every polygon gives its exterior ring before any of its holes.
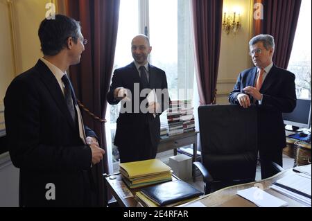
{"type": "Polygon", "coordinates": [[[184,202],[188,199],[193,200],[194,197],[204,194],[182,180],[141,188],[141,193],[158,206],[184,202]]]}

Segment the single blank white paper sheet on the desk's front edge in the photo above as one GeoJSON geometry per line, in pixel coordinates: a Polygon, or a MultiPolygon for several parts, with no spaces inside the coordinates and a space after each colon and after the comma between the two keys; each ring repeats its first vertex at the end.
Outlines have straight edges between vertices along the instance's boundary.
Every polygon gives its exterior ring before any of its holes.
{"type": "Polygon", "coordinates": [[[259,207],[282,207],[288,206],[288,202],[281,200],[270,193],[266,193],[261,188],[251,187],[242,191],[237,191],[237,194],[244,197],[246,200],[253,202],[259,207]]]}

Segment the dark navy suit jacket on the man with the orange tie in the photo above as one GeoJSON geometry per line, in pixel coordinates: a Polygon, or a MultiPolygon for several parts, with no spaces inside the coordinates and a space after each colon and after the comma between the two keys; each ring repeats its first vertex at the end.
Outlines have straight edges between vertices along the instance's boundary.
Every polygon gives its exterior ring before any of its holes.
{"type": "MultiPolygon", "coordinates": [[[[257,67],[239,74],[229,102],[239,104],[237,95],[244,87],[254,87],[257,67]]],[[[262,104],[258,105],[258,141],[259,147],[284,148],[286,137],[282,112],[292,112],[296,106],[295,75],[273,65],[260,89],[263,94],[262,104]]],[[[253,98],[250,97],[253,101],[253,98]]]]}

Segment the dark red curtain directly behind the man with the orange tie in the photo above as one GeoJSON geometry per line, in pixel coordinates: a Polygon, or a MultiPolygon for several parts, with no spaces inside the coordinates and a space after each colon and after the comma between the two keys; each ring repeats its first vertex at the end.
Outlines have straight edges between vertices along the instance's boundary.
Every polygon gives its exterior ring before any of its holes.
{"type": "Polygon", "coordinates": [[[300,13],[301,0],[254,0],[263,5],[263,19],[254,22],[254,35],[269,34],[275,39],[273,62],[287,69],[300,13]],[[259,27],[260,26],[260,27],[259,27]]]}

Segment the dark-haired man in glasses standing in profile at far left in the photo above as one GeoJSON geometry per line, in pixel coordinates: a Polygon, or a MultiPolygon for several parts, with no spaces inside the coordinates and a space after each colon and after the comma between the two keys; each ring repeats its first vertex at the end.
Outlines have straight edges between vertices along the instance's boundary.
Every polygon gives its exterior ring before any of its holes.
{"type": "Polygon", "coordinates": [[[20,206],[94,206],[91,166],[103,158],[83,125],[66,70],[80,62],[86,40],[78,21],[44,19],[43,58],[12,80],[5,120],[12,163],[20,168],[20,206]]]}

